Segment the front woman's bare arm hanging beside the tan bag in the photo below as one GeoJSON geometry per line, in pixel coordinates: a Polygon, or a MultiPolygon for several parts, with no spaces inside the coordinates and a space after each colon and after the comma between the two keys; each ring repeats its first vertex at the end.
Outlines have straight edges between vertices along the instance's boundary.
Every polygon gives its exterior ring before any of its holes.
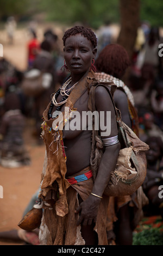
{"type": "MultiPolygon", "coordinates": [[[[110,95],[104,87],[99,86],[96,88],[95,102],[99,116],[99,134],[102,138],[117,136],[118,131],[115,109],[110,95]]],[[[96,222],[99,204],[101,202],[103,192],[111,178],[111,172],[115,170],[119,151],[119,142],[105,147],[98,167],[97,177],[92,188],[92,194],[90,194],[90,196],[79,205],[76,211],[81,211],[78,224],[83,222],[83,225],[87,225],[92,221],[96,222]]]]}

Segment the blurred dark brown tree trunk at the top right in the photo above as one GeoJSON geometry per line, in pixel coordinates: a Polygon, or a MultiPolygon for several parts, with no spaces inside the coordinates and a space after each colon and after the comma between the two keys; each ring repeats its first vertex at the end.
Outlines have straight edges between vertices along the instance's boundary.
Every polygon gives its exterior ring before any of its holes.
{"type": "MultiPolygon", "coordinates": [[[[133,56],[137,28],[140,25],[139,14],[140,0],[120,0],[121,31],[117,44],[122,45],[127,50],[130,59],[133,56]]],[[[124,80],[127,80],[128,72],[124,80]]]]}

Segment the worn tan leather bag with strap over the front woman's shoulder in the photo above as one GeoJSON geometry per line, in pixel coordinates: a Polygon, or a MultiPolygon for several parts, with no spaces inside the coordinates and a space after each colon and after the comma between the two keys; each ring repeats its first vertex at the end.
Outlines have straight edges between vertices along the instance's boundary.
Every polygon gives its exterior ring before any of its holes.
{"type": "MultiPolygon", "coordinates": [[[[121,119],[121,112],[115,106],[113,94],[116,86],[106,84],[92,85],[90,89],[89,109],[95,111],[95,89],[97,86],[104,86],[110,94],[115,108],[116,121],[118,127],[118,140],[121,144],[118,155],[116,169],[111,173],[111,179],[106,186],[104,194],[106,196],[127,196],[137,191],[143,184],[147,172],[146,151],[149,149],[145,142],[142,142],[136,134],[121,119]],[[111,90],[109,89],[111,88],[111,90]]],[[[98,163],[103,154],[103,142],[97,130],[92,131],[92,155],[91,168],[97,174],[98,164],[95,163],[95,155],[99,151],[98,163]],[[101,145],[101,146],[100,146],[101,145]]],[[[96,177],[95,177],[96,178],[96,177]]]]}

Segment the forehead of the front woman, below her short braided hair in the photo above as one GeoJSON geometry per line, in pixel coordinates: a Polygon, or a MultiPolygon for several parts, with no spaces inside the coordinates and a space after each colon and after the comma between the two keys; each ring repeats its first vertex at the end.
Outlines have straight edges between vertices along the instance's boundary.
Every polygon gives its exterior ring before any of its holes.
{"type": "Polygon", "coordinates": [[[92,42],[82,34],[70,35],[65,41],[65,46],[70,45],[70,44],[71,45],[85,45],[85,46],[92,47],[92,42]]]}

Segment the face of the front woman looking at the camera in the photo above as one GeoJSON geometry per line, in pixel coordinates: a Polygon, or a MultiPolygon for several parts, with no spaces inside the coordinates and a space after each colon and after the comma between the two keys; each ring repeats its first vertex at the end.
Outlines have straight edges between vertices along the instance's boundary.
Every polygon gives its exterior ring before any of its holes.
{"type": "Polygon", "coordinates": [[[85,74],[90,70],[97,49],[82,34],[71,35],[65,41],[64,58],[71,74],[85,74]]]}

